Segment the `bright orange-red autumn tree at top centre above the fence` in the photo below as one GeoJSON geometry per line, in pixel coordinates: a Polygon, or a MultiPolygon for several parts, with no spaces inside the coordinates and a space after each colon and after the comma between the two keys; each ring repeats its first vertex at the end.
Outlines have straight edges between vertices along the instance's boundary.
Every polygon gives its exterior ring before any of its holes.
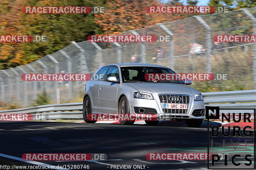
{"type": "Polygon", "coordinates": [[[129,30],[144,28],[182,17],[172,14],[152,14],[146,12],[147,6],[163,5],[158,0],[114,0],[107,2],[107,10],[95,16],[104,33],[118,34],[129,30]]]}

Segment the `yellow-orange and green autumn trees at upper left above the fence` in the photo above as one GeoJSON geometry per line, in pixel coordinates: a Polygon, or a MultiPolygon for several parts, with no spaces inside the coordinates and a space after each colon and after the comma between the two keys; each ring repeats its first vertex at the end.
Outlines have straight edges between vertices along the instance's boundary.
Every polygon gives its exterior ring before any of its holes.
{"type": "Polygon", "coordinates": [[[0,43],[0,69],[33,62],[102,33],[94,14],[24,14],[23,6],[104,6],[101,0],[1,0],[0,35],[46,35],[47,42],[0,43]]]}

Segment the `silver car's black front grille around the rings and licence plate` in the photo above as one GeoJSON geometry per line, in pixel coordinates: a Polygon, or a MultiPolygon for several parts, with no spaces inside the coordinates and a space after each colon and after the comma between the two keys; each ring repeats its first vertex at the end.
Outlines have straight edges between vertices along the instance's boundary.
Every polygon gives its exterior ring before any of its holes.
{"type": "MultiPolygon", "coordinates": [[[[180,104],[188,104],[189,106],[189,95],[180,95],[180,94],[160,94],[159,100],[161,103],[180,103],[180,104]],[[180,101],[171,101],[170,97],[180,97],[180,101]]],[[[186,114],[188,109],[163,109],[164,113],[177,113],[177,114],[186,114]]]]}

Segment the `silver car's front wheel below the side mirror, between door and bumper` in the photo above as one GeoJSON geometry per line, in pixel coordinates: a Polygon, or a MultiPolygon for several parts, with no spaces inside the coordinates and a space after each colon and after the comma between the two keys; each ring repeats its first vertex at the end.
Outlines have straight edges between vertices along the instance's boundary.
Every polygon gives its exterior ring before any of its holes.
{"type": "MultiPolygon", "coordinates": [[[[130,114],[130,106],[129,106],[129,103],[128,103],[128,100],[126,99],[125,96],[123,96],[119,103],[118,103],[118,115],[124,115],[124,114],[130,114]]],[[[122,125],[132,125],[135,120],[120,120],[119,119],[119,122],[122,124],[122,125]]]]}

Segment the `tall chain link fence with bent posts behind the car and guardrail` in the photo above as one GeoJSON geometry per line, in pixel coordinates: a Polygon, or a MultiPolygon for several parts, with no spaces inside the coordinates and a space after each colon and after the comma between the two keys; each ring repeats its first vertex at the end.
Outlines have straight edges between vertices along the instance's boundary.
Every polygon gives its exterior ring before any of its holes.
{"type": "Polygon", "coordinates": [[[86,82],[23,81],[24,73],[89,73],[111,63],[153,63],[170,67],[176,73],[227,74],[227,80],[194,81],[201,92],[255,89],[256,43],[214,43],[214,35],[256,35],[256,10],[241,9],[228,13],[194,16],[179,21],[156,24],[123,35],[170,35],[170,42],[95,43],[72,42],[66,48],[32,63],[0,71],[0,101],[32,106],[44,89],[57,103],[68,102],[84,90],[86,82]],[[194,44],[203,46],[197,54],[194,44]],[[153,60],[157,53],[160,59],[153,60]]]}

